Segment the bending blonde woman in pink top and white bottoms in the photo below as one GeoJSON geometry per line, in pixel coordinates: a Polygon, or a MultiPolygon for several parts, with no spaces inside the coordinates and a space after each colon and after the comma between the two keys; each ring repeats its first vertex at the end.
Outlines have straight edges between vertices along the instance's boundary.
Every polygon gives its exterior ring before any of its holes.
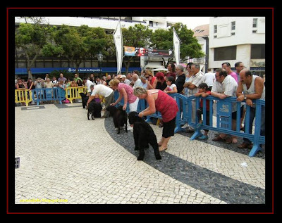
{"type": "Polygon", "coordinates": [[[136,111],[138,106],[139,98],[133,94],[133,88],[128,84],[121,83],[117,78],[112,79],[109,82],[111,89],[118,89],[119,97],[115,103],[111,103],[111,106],[116,106],[118,102],[123,98],[123,110],[126,110],[126,107],[129,103],[129,111],[136,111]]]}

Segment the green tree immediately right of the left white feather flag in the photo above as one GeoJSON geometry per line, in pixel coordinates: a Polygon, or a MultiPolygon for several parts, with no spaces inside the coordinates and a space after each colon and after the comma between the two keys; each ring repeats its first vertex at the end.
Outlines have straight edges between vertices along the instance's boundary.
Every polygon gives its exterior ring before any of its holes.
{"type": "MultiPolygon", "coordinates": [[[[152,36],[152,30],[149,27],[141,24],[135,24],[128,29],[123,28],[123,46],[145,47],[149,46],[149,41],[152,36]]],[[[132,56],[123,57],[123,63],[125,65],[125,72],[128,72],[130,62],[133,60],[132,56]]]]}

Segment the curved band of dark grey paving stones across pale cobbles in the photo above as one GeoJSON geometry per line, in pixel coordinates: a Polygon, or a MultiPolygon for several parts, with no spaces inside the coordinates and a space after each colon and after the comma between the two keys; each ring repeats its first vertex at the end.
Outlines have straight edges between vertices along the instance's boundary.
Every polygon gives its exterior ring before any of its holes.
{"type": "MultiPolygon", "coordinates": [[[[121,146],[123,146],[137,158],[139,152],[134,151],[135,145],[132,132],[128,131],[128,133],[126,133],[124,130],[121,130],[121,134],[116,134],[114,123],[111,117],[105,119],[105,127],[106,131],[118,144],[121,144],[121,146]]],[[[212,137],[210,137],[210,140],[212,141],[212,137]]],[[[224,148],[225,146],[226,144],[224,144],[224,148]]],[[[181,181],[184,184],[192,186],[195,189],[199,189],[200,191],[203,191],[214,198],[219,198],[226,203],[265,203],[264,189],[252,186],[250,184],[245,184],[241,181],[226,177],[223,174],[207,170],[204,167],[200,167],[166,152],[161,153],[161,158],[161,160],[155,159],[154,151],[152,146],[150,146],[145,150],[145,158],[143,162],[154,167],[156,170],[159,170],[160,172],[163,172],[164,174],[181,181]]]]}

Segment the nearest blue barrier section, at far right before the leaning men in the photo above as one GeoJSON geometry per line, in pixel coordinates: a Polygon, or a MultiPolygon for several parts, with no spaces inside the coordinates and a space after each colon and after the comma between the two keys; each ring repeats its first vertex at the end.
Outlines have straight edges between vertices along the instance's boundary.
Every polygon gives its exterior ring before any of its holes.
{"type": "MultiPolygon", "coordinates": [[[[263,100],[252,100],[255,103],[255,129],[254,134],[248,133],[249,130],[252,130],[252,126],[250,126],[250,106],[246,106],[246,114],[245,114],[245,132],[240,132],[240,113],[241,113],[241,102],[238,102],[235,97],[228,97],[223,100],[213,97],[207,96],[206,98],[190,96],[188,97],[188,104],[190,110],[192,110],[192,100],[196,101],[196,111],[200,108],[200,99],[203,100],[203,117],[202,117],[202,125],[199,129],[196,129],[198,120],[197,115],[195,114],[195,121],[192,121],[190,117],[188,117],[189,125],[195,128],[195,133],[191,136],[191,140],[196,139],[198,136],[201,136],[200,129],[209,129],[216,132],[221,132],[225,134],[231,134],[233,136],[239,136],[252,141],[253,146],[249,153],[250,157],[255,156],[255,154],[261,150],[262,148],[259,146],[260,144],[265,144],[265,136],[261,135],[261,119],[262,113],[261,111],[265,108],[265,101],[263,100]],[[207,113],[206,113],[206,101],[209,101],[209,125],[207,125],[207,113]],[[216,101],[216,112],[213,111],[213,103],[216,101]],[[235,130],[232,129],[232,106],[235,103],[237,114],[236,114],[236,127],[235,130]],[[216,116],[216,127],[214,127],[213,116],[216,116]]],[[[191,115],[189,115],[191,116],[191,115]]],[[[252,132],[252,131],[251,131],[252,132]]]]}

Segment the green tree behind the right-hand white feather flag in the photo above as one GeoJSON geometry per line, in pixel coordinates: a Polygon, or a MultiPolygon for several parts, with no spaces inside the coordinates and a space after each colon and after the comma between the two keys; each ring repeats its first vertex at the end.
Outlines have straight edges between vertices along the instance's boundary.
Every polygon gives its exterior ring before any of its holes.
{"type": "MultiPolygon", "coordinates": [[[[182,23],[176,23],[168,30],[156,30],[152,34],[150,46],[153,49],[173,49],[173,27],[181,42],[180,60],[184,61],[188,56],[192,58],[200,58],[204,56],[201,45],[198,44],[197,39],[193,37],[194,32],[188,30],[187,26],[182,23]]],[[[164,58],[162,59],[164,60],[164,58]]],[[[173,60],[173,58],[168,58],[168,63],[171,60],[173,60]]],[[[166,67],[168,63],[166,63],[166,67]]]]}

